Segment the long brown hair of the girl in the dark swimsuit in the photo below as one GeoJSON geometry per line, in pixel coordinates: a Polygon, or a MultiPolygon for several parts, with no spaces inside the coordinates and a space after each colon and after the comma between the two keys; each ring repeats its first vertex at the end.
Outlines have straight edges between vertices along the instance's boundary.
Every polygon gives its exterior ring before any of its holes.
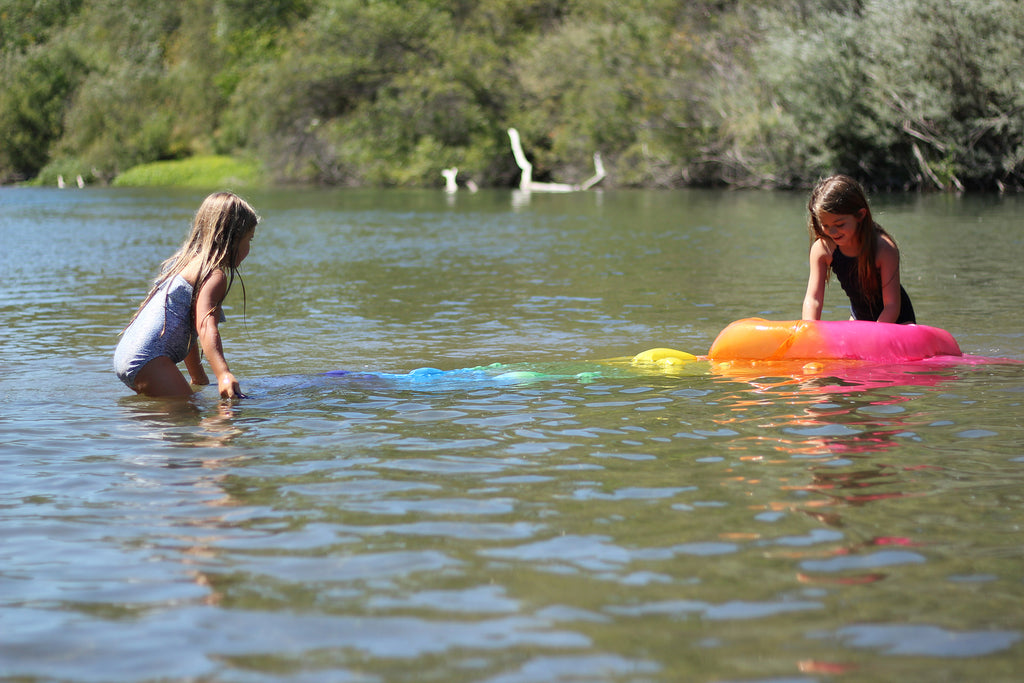
{"type": "Polygon", "coordinates": [[[856,237],[860,244],[860,252],[857,254],[857,280],[865,295],[876,296],[881,289],[879,266],[876,263],[879,236],[893,239],[874,222],[871,207],[867,204],[867,194],[860,183],[848,175],[833,175],[820,180],[811,191],[807,211],[809,214],[807,231],[812,245],[819,239],[831,242],[827,233],[821,229],[821,223],[818,221],[819,213],[857,216],[863,211],[863,216],[857,219],[856,237]]]}

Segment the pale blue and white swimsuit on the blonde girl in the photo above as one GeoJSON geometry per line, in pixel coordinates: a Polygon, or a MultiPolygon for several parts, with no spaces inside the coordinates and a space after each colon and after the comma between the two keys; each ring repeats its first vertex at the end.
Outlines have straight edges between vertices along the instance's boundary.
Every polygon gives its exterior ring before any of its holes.
{"type": "Polygon", "coordinates": [[[193,286],[181,275],[163,283],[139,311],[114,351],[114,372],[135,389],[142,367],[162,355],[181,362],[199,340],[191,315],[193,286]]]}

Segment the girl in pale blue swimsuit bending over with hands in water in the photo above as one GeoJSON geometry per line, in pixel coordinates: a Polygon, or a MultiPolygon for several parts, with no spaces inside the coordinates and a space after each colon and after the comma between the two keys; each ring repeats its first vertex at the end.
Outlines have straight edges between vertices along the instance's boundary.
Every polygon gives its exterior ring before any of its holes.
{"type": "Polygon", "coordinates": [[[164,261],[114,352],[114,370],[130,389],[146,396],[191,395],[177,364],[184,360],[193,384],[209,384],[202,348],[220,395],[244,397],[224,358],[218,325],[258,223],[253,208],[236,195],[216,193],[203,201],[188,238],[164,261]]]}

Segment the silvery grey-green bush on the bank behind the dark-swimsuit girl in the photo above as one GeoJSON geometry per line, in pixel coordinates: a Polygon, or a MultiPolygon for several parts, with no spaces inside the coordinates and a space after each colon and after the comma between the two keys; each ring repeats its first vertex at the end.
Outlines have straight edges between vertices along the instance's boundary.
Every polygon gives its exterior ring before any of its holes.
{"type": "Polygon", "coordinates": [[[900,188],[1024,185],[1019,3],[874,0],[760,22],[720,97],[720,139],[746,182],[845,171],[900,188]]]}

